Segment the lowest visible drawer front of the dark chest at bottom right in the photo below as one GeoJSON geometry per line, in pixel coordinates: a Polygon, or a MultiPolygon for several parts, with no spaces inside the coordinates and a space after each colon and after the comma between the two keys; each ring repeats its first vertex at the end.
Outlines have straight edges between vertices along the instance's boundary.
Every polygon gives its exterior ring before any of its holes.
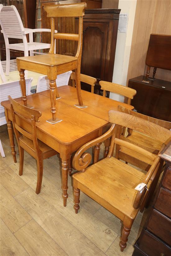
{"type": "Polygon", "coordinates": [[[139,244],[140,250],[150,256],[170,256],[171,248],[162,243],[148,231],[143,231],[139,244]]]}

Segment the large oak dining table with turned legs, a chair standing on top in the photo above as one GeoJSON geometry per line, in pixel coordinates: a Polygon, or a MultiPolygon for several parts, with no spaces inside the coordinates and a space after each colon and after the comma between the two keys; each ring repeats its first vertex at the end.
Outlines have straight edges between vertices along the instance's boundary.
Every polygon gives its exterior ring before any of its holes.
{"type": "MultiPolygon", "coordinates": [[[[70,161],[72,153],[84,143],[101,135],[103,127],[109,123],[109,110],[117,110],[118,105],[123,105],[129,109],[133,109],[133,107],[82,90],[83,100],[88,103],[89,107],[78,109],[73,105],[73,102],[77,99],[76,88],[66,85],[58,87],[58,91],[62,98],[56,102],[56,113],[62,121],[54,125],[46,122],[47,118],[51,116],[49,111],[51,108],[49,90],[29,95],[27,100],[28,104],[42,112],[40,122],[36,123],[37,138],[59,152],[62,159],[62,198],[63,204],[66,206],[68,197],[68,169],[72,169],[70,161]]],[[[15,100],[23,104],[22,97],[15,100]]],[[[14,148],[10,102],[3,101],[1,104],[5,108],[10,146],[15,160],[16,152],[14,148]]],[[[23,121],[18,117],[17,121],[23,129],[30,132],[31,125],[27,120],[23,121]]],[[[98,152],[95,152],[95,154],[98,154],[98,152]]]]}

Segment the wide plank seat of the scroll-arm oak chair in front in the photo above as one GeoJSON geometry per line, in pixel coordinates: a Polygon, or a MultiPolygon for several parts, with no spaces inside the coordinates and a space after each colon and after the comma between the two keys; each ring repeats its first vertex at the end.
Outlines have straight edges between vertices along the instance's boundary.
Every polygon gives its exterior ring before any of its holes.
{"type": "MultiPolygon", "coordinates": [[[[134,219],[138,210],[133,208],[137,191],[134,189],[143,181],[145,174],[119,161],[114,157],[88,167],[85,172],[78,172],[73,178],[78,181],[78,188],[110,210],[114,215],[121,212],[134,219]],[[79,185],[82,184],[82,185],[79,185]],[[86,188],[84,190],[84,187],[86,188]],[[89,192],[87,192],[89,191],[89,192]],[[95,196],[92,196],[92,193],[95,196]],[[106,207],[111,205],[111,207],[106,207]]],[[[121,216],[119,215],[119,218],[121,216]]]]}

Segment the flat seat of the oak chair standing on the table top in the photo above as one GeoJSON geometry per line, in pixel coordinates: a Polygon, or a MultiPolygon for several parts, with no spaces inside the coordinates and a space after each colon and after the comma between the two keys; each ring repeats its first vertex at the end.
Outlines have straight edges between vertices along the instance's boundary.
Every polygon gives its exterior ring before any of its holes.
{"type": "Polygon", "coordinates": [[[40,64],[40,65],[58,66],[61,64],[76,61],[77,57],[60,55],[60,54],[46,54],[46,55],[36,55],[36,56],[28,56],[28,57],[18,57],[17,59],[40,64]]]}

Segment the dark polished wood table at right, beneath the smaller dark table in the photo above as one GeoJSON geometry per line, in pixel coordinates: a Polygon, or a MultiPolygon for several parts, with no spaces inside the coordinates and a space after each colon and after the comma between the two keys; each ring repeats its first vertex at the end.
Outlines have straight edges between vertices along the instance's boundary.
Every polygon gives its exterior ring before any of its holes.
{"type": "Polygon", "coordinates": [[[141,75],[128,81],[128,87],[136,90],[131,105],[141,114],[171,122],[171,82],[143,80],[146,76],[141,75]]]}

